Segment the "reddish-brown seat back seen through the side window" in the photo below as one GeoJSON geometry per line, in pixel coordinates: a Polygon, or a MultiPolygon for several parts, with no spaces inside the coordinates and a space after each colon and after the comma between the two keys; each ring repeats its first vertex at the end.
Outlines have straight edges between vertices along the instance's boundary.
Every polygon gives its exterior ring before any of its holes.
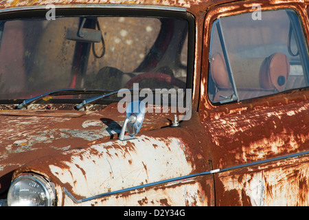
{"type": "MultiPolygon", "coordinates": [[[[275,53],[267,58],[231,58],[233,77],[240,100],[273,94],[282,91],[290,73],[290,63],[285,54],[275,53]],[[248,82],[251,80],[252,82],[248,82]]],[[[222,54],[214,54],[211,61],[211,78],[216,87],[214,101],[219,96],[230,96],[231,82],[222,54]]]]}

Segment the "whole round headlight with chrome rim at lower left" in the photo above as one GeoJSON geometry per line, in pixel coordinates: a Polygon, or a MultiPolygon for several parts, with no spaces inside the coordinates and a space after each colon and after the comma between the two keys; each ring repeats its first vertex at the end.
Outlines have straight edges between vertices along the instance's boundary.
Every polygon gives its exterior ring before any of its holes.
{"type": "Polygon", "coordinates": [[[55,190],[39,175],[23,174],[12,182],[8,190],[8,206],[54,206],[55,190]]]}

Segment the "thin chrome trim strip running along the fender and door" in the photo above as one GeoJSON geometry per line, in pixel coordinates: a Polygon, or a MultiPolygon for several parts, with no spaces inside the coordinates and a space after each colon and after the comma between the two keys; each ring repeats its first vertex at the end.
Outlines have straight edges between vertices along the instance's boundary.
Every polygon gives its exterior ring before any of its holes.
{"type": "Polygon", "coordinates": [[[192,174],[192,175],[185,175],[183,177],[175,177],[175,178],[172,178],[172,179],[165,179],[165,180],[162,180],[162,181],[153,182],[151,184],[133,186],[133,187],[125,188],[125,189],[122,189],[122,190],[115,190],[113,192],[105,192],[105,193],[102,193],[100,195],[88,197],[86,199],[76,199],[76,198],[74,198],[73,195],[71,195],[71,193],[66,188],[64,188],[64,191],[65,191],[65,194],[68,197],[70,197],[75,203],[82,203],[84,201],[89,201],[89,200],[92,200],[92,199],[98,199],[98,198],[106,197],[108,195],[115,195],[115,194],[121,193],[121,192],[128,192],[130,190],[137,190],[137,189],[140,189],[140,188],[146,188],[146,187],[155,186],[155,185],[159,185],[159,184],[166,184],[166,183],[169,183],[169,182],[179,181],[179,180],[183,180],[183,179],[191,179],[193,177],[209,175],[209,174],[213,174],[213,173],[222,173],[222,172],[226,172],[228,170],[234,170],[234,169],[237,169],[237,168],[244,168],[244,167],[247,167],[247,166],[254,166],[254,165],[258,165],[258,164],[274,162],[274,161],[277,161],[277,160],[280,160],[280,159],[288,159],[290,157],[299,157],[299,156],[303,156],[303,155],[306,155],[306,154],[309,154],[309,151],[304,151],[304,152],[300,152],[300,153],[293,153],[293,154],[290,154],[290,155],[285,155],[285,156],[282,156],[282,157],[274,157],[274,158],[271,158],[271,159],[263,159],[263,160],[260,160],[258,162],[252,162],[252,163],[242,164],[242,165],[238,165],[238,166],[231,166],[231,167],[228,167],[228,168],[209,170],[209,171],[206,171],[206,172],[203,172],[203,173],[195,173],[195,174],[192,174]]]}

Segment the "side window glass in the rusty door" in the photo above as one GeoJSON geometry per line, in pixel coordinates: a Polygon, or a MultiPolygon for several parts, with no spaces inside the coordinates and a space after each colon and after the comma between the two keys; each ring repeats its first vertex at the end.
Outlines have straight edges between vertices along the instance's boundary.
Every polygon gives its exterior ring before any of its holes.
{"type": "Polygon", "coordinates": [[[222,17],[214,22],[209,54],[212,102],[267,96],[308,86],[308,52],[292,10],[222,17]]]}

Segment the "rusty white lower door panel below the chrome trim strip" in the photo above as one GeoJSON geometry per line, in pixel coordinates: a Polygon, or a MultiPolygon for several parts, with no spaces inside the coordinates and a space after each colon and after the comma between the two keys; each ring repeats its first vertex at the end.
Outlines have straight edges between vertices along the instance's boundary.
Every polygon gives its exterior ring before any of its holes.
{"type": "Polygon", "coordinates": [[[218,206],[308,206],[309,157],[297,157],[215,176],[218,206]]]}

